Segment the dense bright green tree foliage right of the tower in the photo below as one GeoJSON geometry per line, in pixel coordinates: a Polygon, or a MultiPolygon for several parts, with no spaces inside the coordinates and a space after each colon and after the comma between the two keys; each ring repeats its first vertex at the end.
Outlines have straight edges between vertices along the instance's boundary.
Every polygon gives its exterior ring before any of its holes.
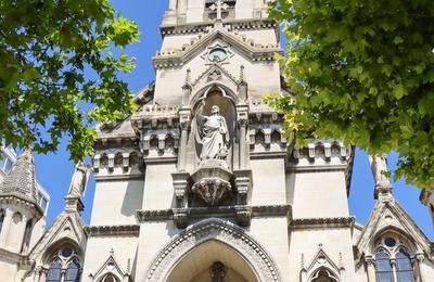
{"type": "Polygon", "coordinates": [[[434,187],[432,0],[278,0],[279,57],[292,97],[267,99],[288,138],[337,138],[369,153],[399,153],[395,179],[434,187]]]}

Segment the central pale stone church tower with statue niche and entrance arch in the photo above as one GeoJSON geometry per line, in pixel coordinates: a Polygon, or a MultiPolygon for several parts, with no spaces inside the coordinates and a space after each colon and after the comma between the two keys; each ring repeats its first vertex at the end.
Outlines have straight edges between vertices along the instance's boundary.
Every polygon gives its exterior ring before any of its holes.
{"type": "MultiPolygon", "coordinates": [[[[152,57],[155,81],[135,98],[137,113],[100,128],[90,228],[113,236],[131,230],[137,249],[116,242],[126,251],[122,264],[136,261],[136,281],[296,281],[302,256],[322,253],[336,277],[353,279],[353,262],[345,273],[339,269],[340,257],[352,261],[350,151],[318,140],[295,150],[283,116],[264,102],[264,94],[290,93],[275,59],[283,52],[267,2],[170,1],[152,57]],[[328,221],[345,245],[329,240],[328,221]],[[306,241],[310,228],[315,236],[306,241]]],[[[104,240],[95,234],[87,247],[104,240]]],[[[88,253],[86,259],[101,258],[88,253]]]]}

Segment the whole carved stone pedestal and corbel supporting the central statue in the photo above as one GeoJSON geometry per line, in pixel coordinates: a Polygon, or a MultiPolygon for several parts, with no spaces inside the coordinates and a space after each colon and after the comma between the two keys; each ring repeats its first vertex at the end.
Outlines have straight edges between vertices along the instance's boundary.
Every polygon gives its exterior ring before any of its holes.
{"type": "Polygon", "coordinates": [[[225,165],[220,164],[221,162],[224,161],[206,161],[191,175],[193,180],[191,191],[201,197],[207,206],[218,205],[221,198],[232,190],[230,182],[233,175],[225,165]]]}

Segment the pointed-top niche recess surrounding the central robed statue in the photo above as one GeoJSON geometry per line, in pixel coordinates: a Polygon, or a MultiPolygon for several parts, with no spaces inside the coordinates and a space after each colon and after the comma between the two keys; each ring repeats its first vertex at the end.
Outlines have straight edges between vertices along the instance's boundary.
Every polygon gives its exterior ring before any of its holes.
{"type": "Polygon", "coordinates": [[[228,137],[229,137],[229,148],[227,164],[229,168],[233,167],[234,162],[234,150],[237,141],[237,95],[232,93],[228,88],[220,85],[212,85],[207,88],[199,91],[195,97],[191,100],[192,107],[192,130],[190,134],[190,145],[193,152],[190,155],[194,155],[195,164],[200,163],[200,155],[202,151],[202,145],[197,140],[200,139],[201,125],[199,120],[199,115],[209,116],[212,113],[212,107],[217,105],[220,110],[220,115],[225,117],[228,126],[228,137]]]}

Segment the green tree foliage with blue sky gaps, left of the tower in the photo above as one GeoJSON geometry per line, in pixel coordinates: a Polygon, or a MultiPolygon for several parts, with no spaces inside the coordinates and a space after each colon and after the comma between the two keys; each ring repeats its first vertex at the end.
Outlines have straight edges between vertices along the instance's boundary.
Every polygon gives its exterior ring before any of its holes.
{"type": "Polygon", "coordinates": [[[46,153],[66,136],[72,159],[91,154],[90,125],[133,110],[117,78],[133,57],[108,49],[138,40],[108,0],[0,0],[0,140],[46,153]]]}

